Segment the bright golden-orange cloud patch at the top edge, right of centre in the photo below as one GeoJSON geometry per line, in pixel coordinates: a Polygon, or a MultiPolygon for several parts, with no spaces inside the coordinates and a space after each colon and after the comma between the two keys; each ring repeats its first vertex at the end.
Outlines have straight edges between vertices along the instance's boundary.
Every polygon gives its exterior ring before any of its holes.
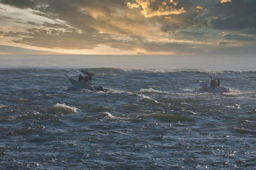
{"type": "Polygon", "coordinates": [[[177,1],[166,0],[136,0],[136,3],[127,3],[129,8],[141,8],[141,14],[146,18],[162,15],[179,15],[186,13],[184,8],[175,9],[177,1]]]}

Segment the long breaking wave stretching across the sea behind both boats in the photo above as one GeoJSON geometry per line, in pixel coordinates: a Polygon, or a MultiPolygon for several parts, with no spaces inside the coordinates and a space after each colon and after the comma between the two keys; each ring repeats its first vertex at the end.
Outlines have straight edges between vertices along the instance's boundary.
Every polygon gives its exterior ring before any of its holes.
{"type": "Polygon", "coordinates": [[[81,70],[92,71],[95,74],[126,74],[126,73],[193,73],[193,74],[255,74],[255,70],[251,71],[232,71],[232,70],[203,70],[203,69],[122,69],[118,67],[98,67],[98,68],[81,68],[81,69],[50,69],[50,68],[13,68],[13,69],[0,69],[1,76],[42,76],[42,75],[63,75],[73,74],[81,70]]]}

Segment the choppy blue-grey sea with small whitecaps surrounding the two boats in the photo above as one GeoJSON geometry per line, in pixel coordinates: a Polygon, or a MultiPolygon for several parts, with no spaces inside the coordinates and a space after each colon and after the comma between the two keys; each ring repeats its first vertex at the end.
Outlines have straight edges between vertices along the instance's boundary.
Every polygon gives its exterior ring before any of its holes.
{"type": "Polygon", "coordinates": [[[255,63],[1,55],[0,169],[255,169],[255,63]],[[73,87],[81,70],[105,91],[73,87]],[[230,92],[203,92],[211,77],[230,92]]]}

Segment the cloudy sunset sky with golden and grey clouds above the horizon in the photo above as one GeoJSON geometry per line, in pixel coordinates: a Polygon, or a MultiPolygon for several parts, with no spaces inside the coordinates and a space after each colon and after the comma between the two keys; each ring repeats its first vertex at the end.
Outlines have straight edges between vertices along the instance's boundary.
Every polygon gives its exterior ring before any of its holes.
{"type": "Polygon", "coordinates": [[[255,0],[0,0],[0,54],[255,55],[255,0]]]}

